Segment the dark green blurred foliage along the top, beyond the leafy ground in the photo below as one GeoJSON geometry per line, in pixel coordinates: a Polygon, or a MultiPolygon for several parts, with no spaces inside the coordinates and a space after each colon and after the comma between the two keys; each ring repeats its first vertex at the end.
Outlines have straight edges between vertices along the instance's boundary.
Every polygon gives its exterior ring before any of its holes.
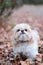
{"type": "Polygon", "coordinates": [[[43,5],[43,0],[0,0],[0,15],[10,14],[14,8],[28,5],[43,5]],[[9,13],[10,12],[10,13],[9,13]]]}

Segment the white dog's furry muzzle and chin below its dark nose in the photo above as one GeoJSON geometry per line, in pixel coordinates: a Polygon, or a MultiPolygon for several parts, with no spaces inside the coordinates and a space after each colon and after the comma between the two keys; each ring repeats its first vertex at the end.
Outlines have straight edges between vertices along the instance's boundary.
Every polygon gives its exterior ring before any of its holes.
{"type": "Polygon", "coordinates": [[[32,37],[29,38],[27,34],[24,35],[20,34],[15,40],[17,43],[26,43],[26,42],[29,43],[32,40],[32,37]]]}

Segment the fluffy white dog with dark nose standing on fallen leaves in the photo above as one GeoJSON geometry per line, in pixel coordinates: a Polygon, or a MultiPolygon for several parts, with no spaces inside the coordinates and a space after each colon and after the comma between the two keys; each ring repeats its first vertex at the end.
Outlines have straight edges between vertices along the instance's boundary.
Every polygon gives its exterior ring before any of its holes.
{"type": "Polygon", "coordinates": [[[34,60],[38,54],[39,35],[26,23],[17,24],[13,28],[12,43],[15,56],[23,53],[29,59],[34,60]]]}

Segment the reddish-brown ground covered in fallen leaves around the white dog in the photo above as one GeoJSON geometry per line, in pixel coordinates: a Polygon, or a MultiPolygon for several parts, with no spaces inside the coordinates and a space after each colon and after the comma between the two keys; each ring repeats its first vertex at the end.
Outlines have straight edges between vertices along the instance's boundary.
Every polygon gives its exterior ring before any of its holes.
{"type": "MultiPolygon", "coordinates": [[[[0,19],[0,22],[2,20],[0,19]]],[[[33,15],[27,10],[19,9],[11,14],[8,20],[0,23],[0,65],[43,65],[43,17],[33,15]],[[32,26],[33,29],[38,30],[40,35],[39,53],[42,57],[41,62],[23,61],[18,57],[14,59],[14,53],[11,44],[12,28],[15,24],[26,22],[32,26]]]]}

